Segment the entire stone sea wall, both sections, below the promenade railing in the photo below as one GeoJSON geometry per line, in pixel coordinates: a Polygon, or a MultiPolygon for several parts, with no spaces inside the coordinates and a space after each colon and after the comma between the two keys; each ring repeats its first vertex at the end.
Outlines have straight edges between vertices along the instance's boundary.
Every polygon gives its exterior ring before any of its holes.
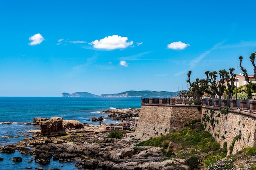
{"type": "Polygon", "coordinates": [[[145,141],[173,130],[181,130],[185,123],[194,119],[202,119],[205,130],[220,142],[221,147],[227,142],[228,154],[230,149],[235,154],[255,144],[256,114],[239,109],[227,111],[220,107],[193,105],[142,104],[135,138],[145,141]]]}

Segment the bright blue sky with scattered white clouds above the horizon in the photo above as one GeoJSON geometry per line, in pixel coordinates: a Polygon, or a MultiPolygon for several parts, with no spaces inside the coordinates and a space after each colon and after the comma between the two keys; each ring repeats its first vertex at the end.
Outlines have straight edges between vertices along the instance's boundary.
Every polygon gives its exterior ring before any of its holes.
{"type": "MultiPolygon", "coordinates": [[[[256,50],[255,0],[0,2],[0,96],[177,91],[256,50]]],[[[238,68],[238,73],[240,69],[238,68]]]]}

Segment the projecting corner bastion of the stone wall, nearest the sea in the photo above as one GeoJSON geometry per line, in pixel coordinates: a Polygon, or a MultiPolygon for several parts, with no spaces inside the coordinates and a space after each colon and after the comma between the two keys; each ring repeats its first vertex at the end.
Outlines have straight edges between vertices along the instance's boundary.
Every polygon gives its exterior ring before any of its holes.
{"type": "Polygon", "coordinates": [[[201,119],[201,114],[201,107],[197,106],[141,105],[135,138],[146,141],[180,130],[189,120],[201,119]]]}

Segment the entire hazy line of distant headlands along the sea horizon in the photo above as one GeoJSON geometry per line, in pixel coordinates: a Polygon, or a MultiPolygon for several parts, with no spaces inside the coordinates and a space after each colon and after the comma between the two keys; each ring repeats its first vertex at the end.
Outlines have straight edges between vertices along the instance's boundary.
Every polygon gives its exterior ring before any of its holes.
{"type": "Polygon", "coordinates": [[[76,92],[76,93],[62,93],[63,97],[171,97],[176,96],[177,92],[156,92],[156,91],[150,91],[150,90],[144,90],[144,91],[127,91],[117,94],[101,94],[95,95],[88,92],[76,92]]]}

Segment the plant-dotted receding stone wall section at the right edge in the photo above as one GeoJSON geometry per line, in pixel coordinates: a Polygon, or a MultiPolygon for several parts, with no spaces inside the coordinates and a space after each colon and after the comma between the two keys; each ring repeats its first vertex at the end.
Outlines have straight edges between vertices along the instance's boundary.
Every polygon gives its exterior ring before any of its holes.
{"type": "Polygon", "coordinates": [[[227,141],[228,153],[232,154],[255,144],[256,114],[240,110],[221,111],[220,108],[202,108],[202,123],[220,142],[227,141]],[[232,150],[233,148],[233,150],[232,150]]]}

